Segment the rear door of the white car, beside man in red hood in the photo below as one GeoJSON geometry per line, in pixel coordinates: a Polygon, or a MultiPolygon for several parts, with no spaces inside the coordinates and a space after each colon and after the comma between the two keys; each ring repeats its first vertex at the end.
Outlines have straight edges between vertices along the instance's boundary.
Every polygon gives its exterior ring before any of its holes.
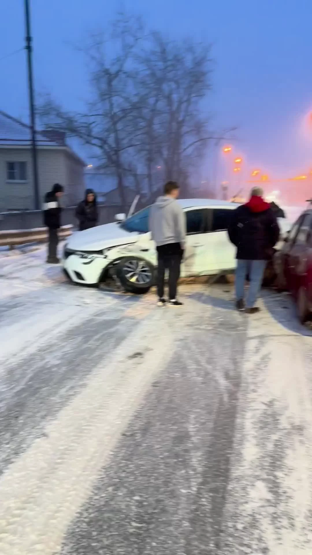
{"type": "Polygon", "coordinates": [[[236,267],[236,248],[229,240],[228,227],[233,215],[231,208],[212,208],[209,210],[209,264],[216,273],[234,270],[236,267]]]}

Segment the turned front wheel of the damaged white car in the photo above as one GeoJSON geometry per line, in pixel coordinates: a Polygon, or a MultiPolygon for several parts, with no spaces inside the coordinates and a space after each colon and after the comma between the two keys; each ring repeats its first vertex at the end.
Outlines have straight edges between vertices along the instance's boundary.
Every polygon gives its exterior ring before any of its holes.
{"type": "Polygon", "coordinates": [[[115,274],[125,291],[143,294],[154,283],[155,269],[142,258],[126,256],[115,267],[115,274]]]}

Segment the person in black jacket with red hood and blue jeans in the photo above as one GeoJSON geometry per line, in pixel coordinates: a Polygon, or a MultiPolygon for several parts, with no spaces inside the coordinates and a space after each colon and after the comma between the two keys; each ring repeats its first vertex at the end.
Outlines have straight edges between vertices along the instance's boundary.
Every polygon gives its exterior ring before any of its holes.
{"type": "Polygon", "coordinates": [[[259,312],[254,306],[261,289],[267,261],[279,240],[278,221],[270,205],[263,200],[263,190],[254,187],[248,203],[233,211],[228,228],[230,241],[237,248],[235,275],[236,308],[245,309],[244,287],[249,274],[250,285],[246,299],[248,314],[259,312]]]}

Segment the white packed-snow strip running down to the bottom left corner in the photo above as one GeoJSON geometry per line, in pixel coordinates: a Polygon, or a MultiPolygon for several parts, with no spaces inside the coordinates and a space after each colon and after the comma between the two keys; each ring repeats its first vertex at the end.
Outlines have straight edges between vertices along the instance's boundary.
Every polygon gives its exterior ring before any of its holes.
{"type": "Polygon", "coordinates": [[[88,384],[0,479],[0,538],[10,555],[55,555],[145,392],[172,354],[169,326],[152,314],[99,365],[88,384]],[[162,349],[150,347],[153,336],[162,349]],[[133,357],[144,354],[142,360],[133,357]]]}

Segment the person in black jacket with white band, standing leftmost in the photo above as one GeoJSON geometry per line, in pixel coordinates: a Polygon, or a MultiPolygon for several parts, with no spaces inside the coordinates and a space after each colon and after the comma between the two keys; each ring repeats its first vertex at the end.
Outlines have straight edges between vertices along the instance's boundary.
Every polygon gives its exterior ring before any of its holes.
{"type": "Polygon", "coordinates": [[[53,185],[52,191],[49,191],[44,197],[43,204],[43,221],[49,231],[48,238],[48,264],[59,264],[57,258],[57,245],[58,233],[57,230],[61,227],[61,212],[62,208],[59,204],[59,199],[63,195],[64,188],[59,183],[53,185]]]}

